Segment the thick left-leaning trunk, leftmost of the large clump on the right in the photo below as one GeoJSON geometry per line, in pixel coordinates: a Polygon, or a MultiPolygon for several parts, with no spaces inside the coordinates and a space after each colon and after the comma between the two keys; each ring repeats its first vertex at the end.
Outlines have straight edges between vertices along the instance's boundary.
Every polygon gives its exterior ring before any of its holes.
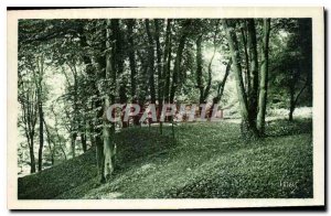
{"type": "Polygon", "coordinates": [[[249,120],[249,110],[247,104],[247,95],[245,93],[243,76],[242,76],[242,65],[241,56],[238,50],[237,36],[233,26],[229,26],[231,21],[222,20],[222,23],[225,28],[226,39],[228,41],[231,57],[233,60],[234,67],[234,77],[236,80],[236,89],[238,95],[238,100],[241,104],[241,114],[242,114],[242,134],[244,138],[250,138],[257,136],[256,127],[249,120]]]}

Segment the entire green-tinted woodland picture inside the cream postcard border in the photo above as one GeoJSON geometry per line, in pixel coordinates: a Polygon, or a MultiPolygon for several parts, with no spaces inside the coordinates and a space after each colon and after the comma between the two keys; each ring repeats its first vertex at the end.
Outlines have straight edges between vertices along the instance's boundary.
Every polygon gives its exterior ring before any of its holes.
{"type": "Polygon", "coordinates": [[[18,198],[311,198],[311,19],[21,19],[18,198]]]}

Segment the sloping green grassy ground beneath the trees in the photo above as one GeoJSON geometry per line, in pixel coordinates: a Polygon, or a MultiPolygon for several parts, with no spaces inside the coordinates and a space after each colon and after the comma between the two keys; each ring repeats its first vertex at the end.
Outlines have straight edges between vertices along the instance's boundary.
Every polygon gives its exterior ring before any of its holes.
{"type": "Polygon", "coordinates": [[[116,172],[96,177],[95,151],[19,179],[19,198],[312,197],[312,123],[273,120],[243,141],[239,125],[191,122],[117,133],[116,172]]]}

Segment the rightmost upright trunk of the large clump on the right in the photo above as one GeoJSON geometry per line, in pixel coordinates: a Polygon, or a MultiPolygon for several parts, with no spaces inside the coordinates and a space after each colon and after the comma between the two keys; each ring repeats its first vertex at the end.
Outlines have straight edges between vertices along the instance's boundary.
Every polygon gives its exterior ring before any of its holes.
{"type": "Polygon", "coordinates": [[[268,90],[268,67],[269,67],[269,57],[268,57],[269,35],[270,35],[270,19],[264,19],[264,40],[263,40],[258,115],[257,115],[257,130],[259,131],[260,134],[265,133],[265,118],[266,118],[267,90],[268,90]]]}

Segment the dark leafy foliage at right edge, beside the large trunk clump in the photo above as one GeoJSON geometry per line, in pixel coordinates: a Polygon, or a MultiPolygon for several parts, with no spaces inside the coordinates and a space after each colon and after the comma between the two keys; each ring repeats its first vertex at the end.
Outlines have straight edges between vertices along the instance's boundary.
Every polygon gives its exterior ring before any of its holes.
{"type": "Polygon", "coordinates": [[[297,105],[312,106],[312,48],[311,20],[275,20],[270,39],[270,107],[285,108],[290,105],[290,95],[306,90],[297,105]]]}

